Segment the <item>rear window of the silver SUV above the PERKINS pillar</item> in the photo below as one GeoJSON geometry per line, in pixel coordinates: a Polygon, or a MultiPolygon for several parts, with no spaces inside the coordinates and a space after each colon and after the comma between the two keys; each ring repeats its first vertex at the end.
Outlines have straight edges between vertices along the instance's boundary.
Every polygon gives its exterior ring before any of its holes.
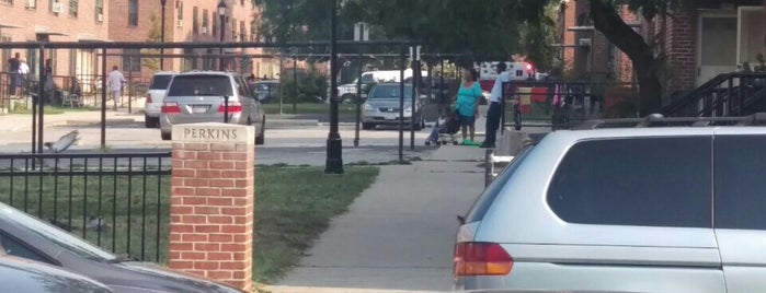
{"type": "Polygon", "coordinates": [[[178,75],[170,84],[168,96],[232,96],[231,87],[229,77],[226,75],[178,75]]]}

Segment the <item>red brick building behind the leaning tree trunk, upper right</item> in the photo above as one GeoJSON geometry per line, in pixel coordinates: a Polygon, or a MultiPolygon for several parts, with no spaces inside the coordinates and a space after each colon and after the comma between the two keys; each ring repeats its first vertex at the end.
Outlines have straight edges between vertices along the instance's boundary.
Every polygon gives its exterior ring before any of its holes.
{"type": "MultiPolygon", "coordinates": [[[[562,1],[559,33],[563,40],[564,70],[574,77],[632,82],[630,59],[593,30],[590,0],[562,1]],[[564,30],[565,28],[565,30],[564,30]]],[[[632,26],[664,56],[665,95],[689,91],[719,73],[736,71],[766,54],[766,22],[762,0],[699,0],[647,21],[619,9],[632,26]]]]}

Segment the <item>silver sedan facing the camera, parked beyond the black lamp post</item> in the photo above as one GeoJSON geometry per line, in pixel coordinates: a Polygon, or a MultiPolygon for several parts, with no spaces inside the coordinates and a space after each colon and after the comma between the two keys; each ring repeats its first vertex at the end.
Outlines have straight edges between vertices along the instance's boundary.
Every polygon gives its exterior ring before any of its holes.
{"type": "MultiPolygon", "coordinates": [[[[399,83],[378,83],[369,91],[362,113],[362,128],[375,129],[379,125],[399,125],[399,103],[401,101],[399,83]]],[[[363,96],[364,97],[364,96],[363,96]]],[[[404,125],[415,121],[415,129],[424,127],[423,102],[421,98],[412,104],[412,84],[404,85],[404,125]]]]}

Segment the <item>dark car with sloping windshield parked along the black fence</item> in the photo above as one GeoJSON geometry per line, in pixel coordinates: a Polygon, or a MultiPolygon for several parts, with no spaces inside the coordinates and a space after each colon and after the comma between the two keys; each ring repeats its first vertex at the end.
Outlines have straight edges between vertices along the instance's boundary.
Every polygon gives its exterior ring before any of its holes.
{"type": "Polygon", "coordinates": [[[0,247],[8,255],[85,276],[114,292],[241,292],[155,263],[115,256],[4,203],[0,203],[0,247]]]}

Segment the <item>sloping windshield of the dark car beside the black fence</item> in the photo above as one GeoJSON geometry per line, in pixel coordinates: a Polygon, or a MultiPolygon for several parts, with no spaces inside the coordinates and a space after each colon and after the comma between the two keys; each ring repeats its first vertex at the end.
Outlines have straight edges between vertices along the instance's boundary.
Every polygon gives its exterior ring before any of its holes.
{"type": "Polygon", "coordinates": [[[66,231],[59,230],[48,223],[45,223],[36,218],[33,218],[22,211],[11,208],[4,203],[0,203],[0,221],[10,223],[16,228],[23,230],[30,234],[36,234],[55,243],[62,249],[66,249],[78,256],[101,260],[116,260],[117,256],[102,250],[77,236],[73,236],[66,231]]]}

